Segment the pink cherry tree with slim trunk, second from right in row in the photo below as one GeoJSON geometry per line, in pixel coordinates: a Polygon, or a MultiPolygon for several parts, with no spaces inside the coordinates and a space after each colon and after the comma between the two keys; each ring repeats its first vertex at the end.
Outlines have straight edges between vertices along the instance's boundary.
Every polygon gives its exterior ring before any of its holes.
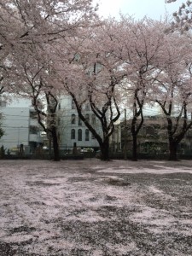
{"type": "Polygon", "coordinates": [[[120,26],[123,27],[119,29],[120,58],[125,72],[122,89],[132,110],[132,160],[137,160],[137,135],[144,121],[143,108],[149,103],[148,92],[154,83],[152,74],[164,44],[166,24],[147,18],[135,21],[122,17],[120,26]]]}

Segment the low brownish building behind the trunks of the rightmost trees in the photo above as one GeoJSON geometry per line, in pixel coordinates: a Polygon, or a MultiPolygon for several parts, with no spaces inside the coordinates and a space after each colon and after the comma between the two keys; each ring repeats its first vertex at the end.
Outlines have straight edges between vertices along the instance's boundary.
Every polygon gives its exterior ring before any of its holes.
{"type": "MultiPolygon", "coordinates": [[[[132,151],[131,119],[127,120],[125,137],[125,121],[121,122],[121,144],[124,149],[125,138],[127,151],[132,151]]],[[[162,115],[145,116],[143,126],[137,135],[137,153],[168,154],[169,142],[167,135],[167,122],[162,115]]],[[[117,128],[116,128],[117,129],[117,128]]],[[[178,145],[178,154],[192,154],[192,131],[186,133],[178,145]]]]}

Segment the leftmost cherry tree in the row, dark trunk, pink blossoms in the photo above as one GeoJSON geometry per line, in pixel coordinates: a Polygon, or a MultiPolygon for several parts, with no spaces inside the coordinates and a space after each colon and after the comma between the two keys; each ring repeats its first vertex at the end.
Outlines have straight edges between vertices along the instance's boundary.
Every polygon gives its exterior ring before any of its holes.
{"type": "Polygon", "coordinates": [[[34,49],[30,55],[27,49],[27,54],[20,53],[12,61],[9,82],[15,96],[31,99],[39,125],[53,142],[54,160],[60,160],[56,115],[59,90],[51,72],[51,61],[34,49]]]}

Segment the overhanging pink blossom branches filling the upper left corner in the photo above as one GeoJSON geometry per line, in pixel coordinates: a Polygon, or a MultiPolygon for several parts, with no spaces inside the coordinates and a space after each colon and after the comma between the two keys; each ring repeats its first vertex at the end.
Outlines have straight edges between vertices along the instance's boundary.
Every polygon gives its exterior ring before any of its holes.
{"type": "MultiPolygon", "coordinates": [[[[27,44],[51,44],[90,26],[91,0],[3,0],[0,2],[0,83],[9,74],[9,55],[27,44]],[[7,71],[7,72],[5,72],[7,71]]],[[[9,90],[0,84],[0,92],[9,90]]]]}

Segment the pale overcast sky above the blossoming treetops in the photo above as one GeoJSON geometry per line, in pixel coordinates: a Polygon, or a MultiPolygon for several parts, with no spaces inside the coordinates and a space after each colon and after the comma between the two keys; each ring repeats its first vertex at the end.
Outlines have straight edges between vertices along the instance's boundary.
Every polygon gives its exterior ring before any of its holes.
{"type": "Polygon", "coordinates": [[[123,14],[133,15],[142,19],[144,15],[156,20],[164,18],[166,12],[170,15],[177,11],[183,0],[177,3],[165,3],[165,0],[94,0],[99,3],[99,15],[108,18],[109,15],[118,18],[119,11],[123,14]]]}

